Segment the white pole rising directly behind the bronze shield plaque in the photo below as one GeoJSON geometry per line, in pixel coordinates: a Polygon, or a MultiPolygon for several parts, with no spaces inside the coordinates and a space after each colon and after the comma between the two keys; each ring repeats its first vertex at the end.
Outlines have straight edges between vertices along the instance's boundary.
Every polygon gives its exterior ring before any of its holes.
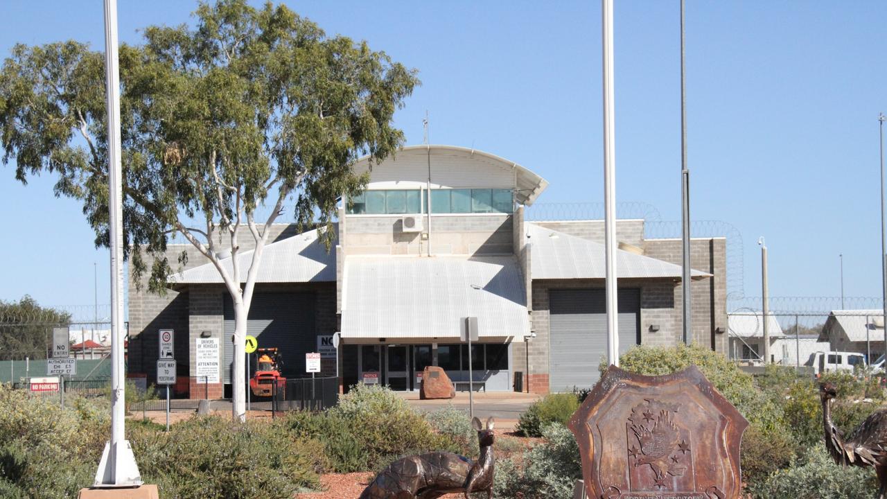
{"type": "Polygon", "coordinates": [[[607,360],[619,365],[616,297],[616,96],[613,88],[613,0],[600,0],[603,38],[604,248],[607,288],[607,360]]]}

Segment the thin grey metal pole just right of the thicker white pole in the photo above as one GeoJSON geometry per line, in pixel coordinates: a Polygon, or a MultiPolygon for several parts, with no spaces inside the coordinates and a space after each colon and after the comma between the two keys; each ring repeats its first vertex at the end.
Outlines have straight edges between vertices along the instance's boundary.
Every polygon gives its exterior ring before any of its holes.
{"type": "Polygon", "coordinates": [[[691,341],[693,307],[690,304],[690,170],[687,170],[687,86],[684,70],[684,0],[680,0],[680,225],[681,308],[684,345],[691,341]]]}

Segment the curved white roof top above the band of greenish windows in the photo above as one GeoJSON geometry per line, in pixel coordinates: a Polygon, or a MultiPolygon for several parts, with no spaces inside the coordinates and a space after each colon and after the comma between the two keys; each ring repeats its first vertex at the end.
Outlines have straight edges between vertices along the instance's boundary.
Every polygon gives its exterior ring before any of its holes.
{"type": "MultiPolygon", "coordinates": [[[[428,181],[429,153],[432,188],[514,188],[517,202],[530,206],[548,186],[545,178],[496,154],[468,147],[434,145],[407,146],[380,165],[374,165],[370,185],[377,188],[424,186],[428,181]]],[[[354,170],[369,170],[367,157],[357,160],[354,170]]]]}

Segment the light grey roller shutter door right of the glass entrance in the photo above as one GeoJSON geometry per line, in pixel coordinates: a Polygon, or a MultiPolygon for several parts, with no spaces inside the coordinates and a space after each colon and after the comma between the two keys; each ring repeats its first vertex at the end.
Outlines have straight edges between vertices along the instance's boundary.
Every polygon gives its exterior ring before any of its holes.
{"type": "MultiPolygon", "coordinates": [[[[600,378],[607,355],[607,302],[604,289],[550,289],[550,372],[552,392],[590,388],[600,378]]],[[[638,344],[640,289],[619,289],[619,352],[638,344]]]]}

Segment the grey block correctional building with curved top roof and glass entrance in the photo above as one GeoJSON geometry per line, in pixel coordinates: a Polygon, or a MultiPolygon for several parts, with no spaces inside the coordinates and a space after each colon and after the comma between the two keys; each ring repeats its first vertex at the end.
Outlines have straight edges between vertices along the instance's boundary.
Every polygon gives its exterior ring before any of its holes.
{"type": "MultiPolygon", "coordinates": [[[[369,184],[342,199],[330,249],[317,230],[296,234],[293,225],[273,226],[264,249],[247,334],[279,349],[285,376],[307,376],[305,353],[320,352],[324,374],[339,376],[345,391],[358,382],[418,390],[428,365],[465,381],[469,355],[487,391],[514,390],[516,377],[530,392],[597,381],[607,345],[602,220],[528,220],[546,180],[475,149],[404,147],[355,169],[369,184]],[[464,317],[477,318],[471,352],[459,340],[464,317]]],[[[642,219],[620,219],[616,236],[620,351],[676,345],[680,240],[645,238],[642,219]]],[[[241,268],[252,243],[245,234],[241,268]]],[[[174,329],[177,392],[222,396],[231,384],[232,300],[190,245],[170,245],[170,261],[183,251],[187,264],[167,296],[130,281],[130,373],[153,380],[158,331],[174,329]],[[206,345],[217,345],[215,364],[206,345]],[[205,387],[197,376],[208,366],[217,372],[205,387]]],[[[694,238],[691,259],[692,340],[726,352],[726,240],[694,238]]]]}

